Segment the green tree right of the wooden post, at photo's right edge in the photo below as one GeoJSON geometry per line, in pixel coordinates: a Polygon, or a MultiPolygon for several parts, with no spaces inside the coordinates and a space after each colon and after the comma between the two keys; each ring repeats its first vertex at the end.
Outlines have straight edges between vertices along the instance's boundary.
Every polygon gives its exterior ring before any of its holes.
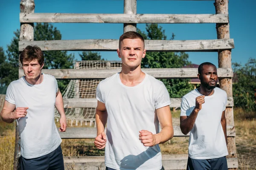
{"type": "Polygon", "coordinates": [[[244,66],[233,63],[233,70],[234,105],[247,111],[256,111],[256,59],[250,58],[244,66]]]}

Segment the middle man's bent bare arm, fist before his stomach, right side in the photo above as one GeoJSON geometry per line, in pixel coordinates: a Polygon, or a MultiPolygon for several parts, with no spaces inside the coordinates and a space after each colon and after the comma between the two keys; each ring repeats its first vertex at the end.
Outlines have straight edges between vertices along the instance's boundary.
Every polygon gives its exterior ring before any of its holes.
{"type": "Polygon", "coordinates": [[[157,109],[157,117],[162,128],[160,133],[152,134],[148,130],[140,130],[139,139],[144,146],[154,146],[164,143],[173,137],[172,114],[169,105],[157,109]]]}

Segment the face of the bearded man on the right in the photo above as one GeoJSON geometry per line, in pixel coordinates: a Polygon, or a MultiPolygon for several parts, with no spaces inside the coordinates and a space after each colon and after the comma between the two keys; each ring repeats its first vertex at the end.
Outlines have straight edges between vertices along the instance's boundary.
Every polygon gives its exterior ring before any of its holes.
{"type": "Polygon", "coordinates": [[[214,65],[204,65],[201,74],[198,74],[198,79],[208,90],[214,89],[218,81],[217,68],[214,65]]]}

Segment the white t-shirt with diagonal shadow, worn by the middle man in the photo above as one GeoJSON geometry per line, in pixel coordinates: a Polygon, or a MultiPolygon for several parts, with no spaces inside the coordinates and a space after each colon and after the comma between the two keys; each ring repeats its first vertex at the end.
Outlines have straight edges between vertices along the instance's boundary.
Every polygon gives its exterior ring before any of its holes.
{"type": "Polygon", "coordinates": [[[160,147],[145,147],[139,131],[159,133],[156,109],[171,104],[163,82],[145,74],[143,81],[128,87],[119,73],[97,86],[96,98],[108,112],[105,165],[116,170],[160,170],[160,147]]]}

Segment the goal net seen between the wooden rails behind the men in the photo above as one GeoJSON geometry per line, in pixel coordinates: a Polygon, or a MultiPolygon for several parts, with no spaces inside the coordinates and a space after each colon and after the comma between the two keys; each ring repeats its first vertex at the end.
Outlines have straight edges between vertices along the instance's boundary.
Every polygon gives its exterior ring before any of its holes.
{"type": "MultiPolygon", "coordinates": [[[[75,69],[114,69],[120,68],[121,70],[122,62],[121,61],[77,61],[75,63],[75,69]]],[[[67,85],[67,88],[63,92],[63,99],[70,98],[96,98],[96,88],[99,82],[102,79],[77,79],[70,80],[70,83],[67,85]]],[[[67,122],[71,121],[71,126],[73,123],[75,125],[82,125],[83,123],[87,125],[87,122],[90,123],[90,126],[95,121],[95,108],[64,108],[66,113],[67,122]]],[[[55,119],[60,119],[58,111],[55,109],[55,119]]]]}

